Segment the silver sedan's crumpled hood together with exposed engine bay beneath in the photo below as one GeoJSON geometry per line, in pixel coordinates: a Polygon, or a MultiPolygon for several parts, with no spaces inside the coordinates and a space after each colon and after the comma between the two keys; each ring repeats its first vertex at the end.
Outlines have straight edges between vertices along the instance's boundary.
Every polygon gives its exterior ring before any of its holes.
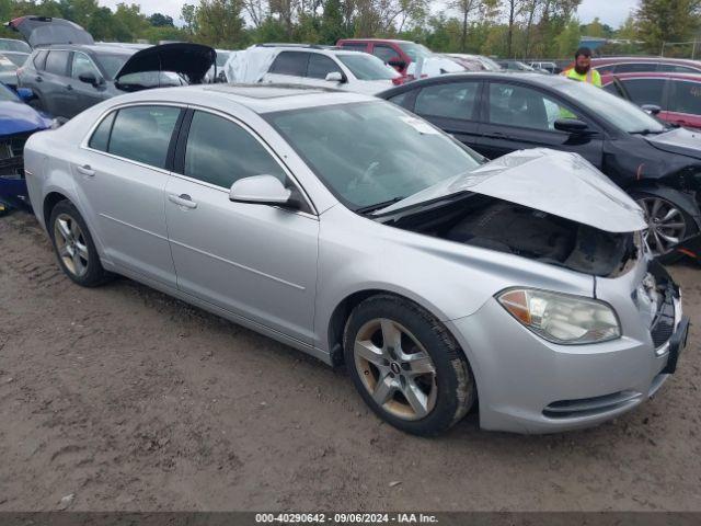
{"type": "Polygon", "coordinates": [[[378,220],[601,277],[643,252],[642,209],[574,153],[514,152],[410,199],[378,220]]]}

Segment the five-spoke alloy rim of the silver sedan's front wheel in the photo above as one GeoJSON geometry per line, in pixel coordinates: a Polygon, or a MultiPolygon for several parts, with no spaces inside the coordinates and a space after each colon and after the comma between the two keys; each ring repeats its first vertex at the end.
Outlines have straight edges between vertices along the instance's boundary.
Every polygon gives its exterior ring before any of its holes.
{"type": "Polygon", "coordinates": [[[436,367],[404,327],[387,318],[370,320],[357,333],[355,367],[372,399],[388,413],[421,420],[436,405],[436,367]]]}

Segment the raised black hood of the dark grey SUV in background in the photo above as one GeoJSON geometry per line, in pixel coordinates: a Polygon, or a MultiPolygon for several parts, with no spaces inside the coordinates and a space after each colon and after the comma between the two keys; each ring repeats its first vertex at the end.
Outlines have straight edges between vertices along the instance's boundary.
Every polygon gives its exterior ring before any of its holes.
{"type": "Polygon", "coordinates": [[[202,83],[205,75],[217,60],[217,52],[200,44],[163,44],[135,53],[115,76],[115,82],[127,91],[154,88],[135,85],[125,79],[135,73],[170,71],[183,76],[188,83],[202,83]],[[126,85],[125,85],[126,84],[126,85]]]}

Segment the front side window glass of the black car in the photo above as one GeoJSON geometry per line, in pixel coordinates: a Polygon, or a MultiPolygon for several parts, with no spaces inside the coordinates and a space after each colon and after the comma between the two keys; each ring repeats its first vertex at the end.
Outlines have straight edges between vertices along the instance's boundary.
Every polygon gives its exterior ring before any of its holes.
{"type": "Polygon", "coordinates": [[[490,122],[505,126],[555,132],[555,121],[581,118],[571,107],[540,91],[517,84],[490,84],[490,122]]]}

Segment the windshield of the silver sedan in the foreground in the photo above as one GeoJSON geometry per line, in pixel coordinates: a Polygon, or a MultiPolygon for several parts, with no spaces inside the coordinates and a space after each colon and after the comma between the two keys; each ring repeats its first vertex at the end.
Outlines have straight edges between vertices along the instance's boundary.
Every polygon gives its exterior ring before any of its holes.
{"type": "Polygon", "coordinates": [[[370,211],[479,165],[478,156],[387,102],[266,116],[348,208],[370,211]]]}

